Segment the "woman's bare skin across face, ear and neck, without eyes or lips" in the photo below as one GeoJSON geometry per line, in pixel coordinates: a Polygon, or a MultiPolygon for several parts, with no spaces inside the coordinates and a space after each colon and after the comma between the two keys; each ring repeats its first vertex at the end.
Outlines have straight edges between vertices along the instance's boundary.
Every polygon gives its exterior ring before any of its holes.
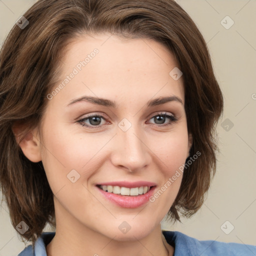
{"type": "MultiPolygon", "coordinates": [[[[189,155],[192,137],[187,133],[182,76],[169,75],[178,66],[173,55],[151,39],[123,39],[100,34],[77,38],[67,45],[61,59],[59,83],[73,67],[99,50],[81,71],[48,101],[42,121],[43,140],[35,128],[21,141],[25,156],[42,161],[54,194],[56,234],[47,245],[47,255],[173,255],[165,241],[160,221],[172,205],[182,175],[157,198],[138,208],[123,208],[106,200],[95,187],[100,182],[152,181],[157,191],[172,177],[189,155]],[[118,108],[70,100],[82,95],[114,100],[118,108]],[[146,107],[160,96],[175,95],[177,101],[146,107]],[[157,122],[153,116],[167,112],[178,118],[157,122]],[[103,114],[100,124],[77,122],[88,113],[103,114]],[[131,127],[118,123],[126,118],[131,127]],[[67,174],[75,169],[80,178],[72,183],[67,174]],[[118,226],[130,226],[122,233],[118,226]]],[[[57,83],[56,85],[58,85],[57,83]]],[[[92,122],[90,122],[92,121],[92,122]]]]}

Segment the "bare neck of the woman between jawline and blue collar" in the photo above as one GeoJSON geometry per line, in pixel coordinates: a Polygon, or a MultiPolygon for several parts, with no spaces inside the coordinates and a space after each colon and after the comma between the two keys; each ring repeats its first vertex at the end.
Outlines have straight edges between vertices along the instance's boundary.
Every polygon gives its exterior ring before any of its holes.
{"type": "Polygon", "coordinates": [[[127,236],[115,239],[115,233],[111,236],[104,235],[106,232],[93,230],[70,214],[60,216],[56,211],[55,214],[56,231],[46,246],[47,256],[173,255],[174,249],[166,242],[160,224],[148,232],[141,227],[140,234],[132,233],[130,229],[125,234],[127,236]]]}

